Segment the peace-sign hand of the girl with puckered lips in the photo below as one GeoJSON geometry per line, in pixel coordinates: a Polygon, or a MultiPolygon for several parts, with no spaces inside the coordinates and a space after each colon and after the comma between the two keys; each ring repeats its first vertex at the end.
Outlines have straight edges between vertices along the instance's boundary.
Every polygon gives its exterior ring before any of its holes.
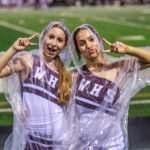
{"type": "Polygon", "coordinates": [[[102,40],[110,47],[109,50],[102,51],[102,53],[118,53],[118,54],[127,54],[128,46],[121,43],[121,42],[115,42],[110,43],[105,38],[102,38],[102,40]]]}

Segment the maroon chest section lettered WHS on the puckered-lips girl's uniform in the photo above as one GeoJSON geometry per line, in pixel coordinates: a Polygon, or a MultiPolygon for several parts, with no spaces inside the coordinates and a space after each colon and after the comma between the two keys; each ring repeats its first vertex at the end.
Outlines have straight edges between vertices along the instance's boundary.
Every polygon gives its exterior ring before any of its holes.
{"type": "Polygon", "coordinates": [[[78,75],[76,94],[79,112],[84,113],[86,110],[90,113],[104,105],[105,113],[115,115],[119,108],[119,105],[114,105],[120,96],[119,88],[110,80],[92,74],[85,65],[81,69],[82,75],[78,75]]]}

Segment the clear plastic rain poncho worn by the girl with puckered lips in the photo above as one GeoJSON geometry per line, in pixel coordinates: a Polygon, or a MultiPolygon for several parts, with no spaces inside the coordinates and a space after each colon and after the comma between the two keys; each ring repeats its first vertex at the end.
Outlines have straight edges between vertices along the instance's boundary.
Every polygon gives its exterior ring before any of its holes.
{"type": "Polygon", "coordinates": [[[140,71],[138,58],[121,58],[103,54],[105,63],[94,74],[85,59],[78,58],[74,34],[87,29],[104,50],[102,40],[90,25],[76,28],[72,34],[71,53],[77,72],[73,90],[76,103],[76,135],[72,144],[76,150],[127,150],[127,118],[130,99],[144,86],[150,84],[150,69],[140,71]],[[106,63],[107,62],[107,63],[106,63]],[[120,71],[116,73],[116,68],[120,71]],[[116,80],[112,81],[116,77],[116,80]]]}

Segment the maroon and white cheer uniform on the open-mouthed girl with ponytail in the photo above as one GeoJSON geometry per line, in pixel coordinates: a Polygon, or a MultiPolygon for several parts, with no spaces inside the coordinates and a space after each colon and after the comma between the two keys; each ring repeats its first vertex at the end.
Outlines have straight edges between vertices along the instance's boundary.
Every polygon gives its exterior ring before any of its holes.
{"type": "Polygon", "coordinates": [[[40,58],[34,56],[33,68],[21,89],[24,109],[28,112],[25,150],[50,150],[59,146],[57,140],[64,133],[65,118],[56,96],[58,74],[44,63],[41,65],[40,58]]]}

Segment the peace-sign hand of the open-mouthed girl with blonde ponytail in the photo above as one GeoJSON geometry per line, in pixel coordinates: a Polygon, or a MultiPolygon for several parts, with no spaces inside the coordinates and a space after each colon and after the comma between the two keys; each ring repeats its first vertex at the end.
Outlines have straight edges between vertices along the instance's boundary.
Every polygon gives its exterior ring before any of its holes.
{"type": "Polygon", "coordinates": [[[17,41],[12,45],[12,48],[16,51],[23,51],[28,46],[36,46],[37,43],[30,43],[32,39],[38,36],[38,33],[35,33],[34,35],[28,37],[28,38],[18,38],[17,41]]]}

